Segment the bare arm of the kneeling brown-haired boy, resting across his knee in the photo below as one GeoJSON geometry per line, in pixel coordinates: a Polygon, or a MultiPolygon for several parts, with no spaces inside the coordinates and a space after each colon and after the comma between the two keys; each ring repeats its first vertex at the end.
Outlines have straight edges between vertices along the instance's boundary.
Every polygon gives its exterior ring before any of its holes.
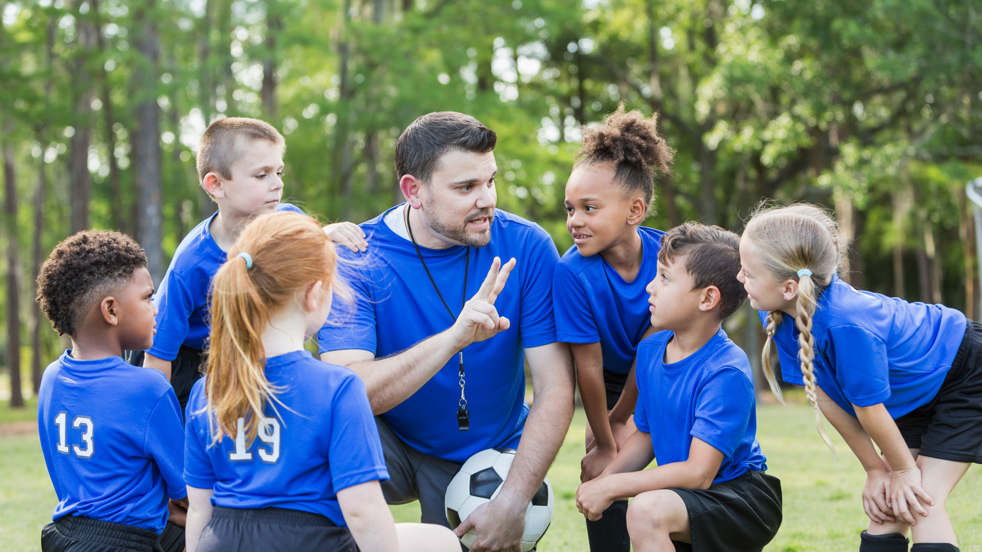
{"type": "MultiPolygon", "coordinates": [[[[634,449],[631,454],[636,455],[635,462],[640,460],[640,455],[635,452],[640,449],[635,439],[638,434],[643,433],[639,431],[631,435],[625,443],[626,451],[628,447],[634,449]]],[[[648,443],[650,445],[650,441],[648,443]]],[[[620,457],[619,454],[618,458],[620,457]]],[[[587,520],[595,522],[601,518],[603,511],[610,508],[610,505],[618,499],[627,499],[643,492],[672,487],[708,489],[716,478],[720,465],[723,464],[723,458],[723,453],[712,445],[692,437],[688,460],[641,471],[605,472],[604,475],[579,485],[579,489],[576,490],[576,507],[587,520]]],[[[616,469],[613,463],[608,468],[616,469]]]]}

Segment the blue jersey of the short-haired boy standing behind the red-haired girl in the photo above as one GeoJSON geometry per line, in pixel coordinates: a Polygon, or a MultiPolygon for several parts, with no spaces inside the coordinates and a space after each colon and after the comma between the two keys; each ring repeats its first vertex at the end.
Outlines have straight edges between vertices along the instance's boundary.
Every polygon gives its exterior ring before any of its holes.
{"type": "MultiPolygon", "coordinates": [[[[303,212],[290,203],[280,203],[276,210],[303,212]]],[[[228,260],[228,253],[218,247],[209,230],[216,216],[218,211],[181,241],[154,295],[157,335],[146,352],[158,359],[177,359],[182,345],[199,351],[205,348],[211,279],[228,260]]]]}

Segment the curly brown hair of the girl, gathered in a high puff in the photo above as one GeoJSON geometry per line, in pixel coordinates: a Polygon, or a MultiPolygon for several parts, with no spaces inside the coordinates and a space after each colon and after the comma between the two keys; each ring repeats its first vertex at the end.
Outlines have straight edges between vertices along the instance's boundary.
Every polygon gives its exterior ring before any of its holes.
{"type": "Polygon", "coordinates": [[[641,193],[648,213],[655,200],[655,175],[671,174],[675,149],[658,134],[658,114],[645,118],[640,111],[625,111],[624,102],[600,125],[584,125],[583,148],[573,168],[585,164],[614,163],[614,179],[626,193],[641,193]]]}

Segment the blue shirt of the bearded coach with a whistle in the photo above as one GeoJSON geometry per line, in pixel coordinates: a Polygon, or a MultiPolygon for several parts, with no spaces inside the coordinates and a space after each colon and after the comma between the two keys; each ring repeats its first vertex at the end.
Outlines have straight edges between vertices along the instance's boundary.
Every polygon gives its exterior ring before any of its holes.
{"type": "MultiPolygon", "coordinates": [[[[361,225],[368,236],[366,253],[341,251],[356,258],[347,271],[355,304],[337,302],[332,308],[317,336],[322,353],[361,349],[383,358],[454,324],[412,243],[393,232],[383,216],[361,225]]],[[[464,297],[465,265],[470,299],[495,256],[502,262],[515,257],[515,269],[495,302],[498,313],[507,316],[512,326],[464,349],[469,431],[460,431],[457,424],[461,398],[457,355],[382,417],[410,447],[444,460],[464,462],[484,449],[515,448],[528,415],[523,348],[556,342],[552,302],[553,271],[559,259],[556,246],[537,224],[496,209],[487,246],[419,250],[455,316],[464,297]],[[465,261],[468,249],[469,261],[465,261]]]]}

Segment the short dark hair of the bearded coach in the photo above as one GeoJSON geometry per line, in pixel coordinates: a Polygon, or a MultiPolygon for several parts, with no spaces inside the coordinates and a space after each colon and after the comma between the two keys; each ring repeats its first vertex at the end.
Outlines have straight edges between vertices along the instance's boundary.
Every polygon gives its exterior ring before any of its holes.
{"type": "Polygon", "coordinates": [[[453,149],[487,153],[497,142],[494,131],[469,115],[427,113],[413,121],[396,143],[396,176],[412,175],[428,184],[444,153],[453,149]]]}

